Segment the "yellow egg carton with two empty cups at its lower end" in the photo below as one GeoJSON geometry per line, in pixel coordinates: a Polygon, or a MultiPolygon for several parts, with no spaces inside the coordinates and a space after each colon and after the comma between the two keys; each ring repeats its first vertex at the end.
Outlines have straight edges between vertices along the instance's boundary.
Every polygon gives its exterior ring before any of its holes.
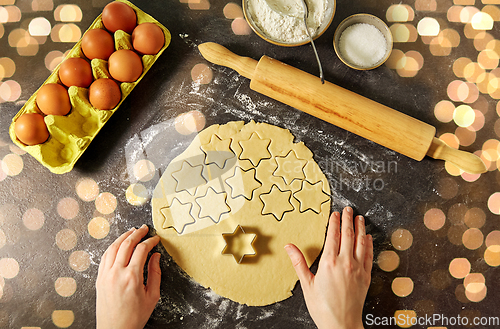
{"type": "MultiPolygon", "coordinates": [[[[144,77],[146,72],[151,68],[154,62],[160,57],[163,51],[170,44],[171,36],[167,28],[160,24],[150,15],[146,14],[134,4],[126,0],[117,0],[129,5],[137,15],[137,24],[141,23],[154,23],[158,25],[165,35],[165,44],[163,48],[156,55],[144,55],[142,56],[143,72],[141,76],[131,83],[121,83],[121,93],[122,97],[118,105],[112,110],[98,110],[94,108],[88,98],[88,88],[81,88],[76,86],[71,86],[68,89],[70,101],[71,101],[71,111],[65,116],[59,115],[47,115],[44,117],[45,124],[47,125],[50,137],[42,144],[27,146],[20,142],[14,132],[14,122],[19,116],[24,113],[40,113],[36,105],[36,91],[24,104],[21,110],[12,119],[12,124],[10,125],[9,134],[12,141],[19,146],[21,149],[25,150],[31,154],[35,159],[37,159],[41,164],[47,167],[51,172],[56,174],[64,174],[71,171],[76,161],[80,158],[83,152],[87,149],[90,142],[94,139],[97,133],[101,130],[104,124],[109,120],[109,118],[115,113],[120,107],[121,103],[125,98],[132,92],[135,85],[138,84],[144,77]]],[[[90,29],[105,29],[101,20],[101,15],[99,15],[96,20],[89,27],[90,29]]],[[[87,30],[87,31],[88,31],[87,30]]],[[[131,49],[132,40],[131,36],[121,30],[118,30],[114,34],[115,48],[120,49],[131,49]]],[[[78,41],[75,46],[71,49],[67,58],[71,57],[82,57],[85,58],[81,47],[82,40],[78,41]]],[[[108,72],[107,61],[101,59],[93,59],[91,61],[92,72],[94,79],[98,78],[111,78],[108,72]]],[[[62,84],[59,79],[59,66],[52,72],[48,79],[44,82],[46,83],[59,83],[62,84]]]]}

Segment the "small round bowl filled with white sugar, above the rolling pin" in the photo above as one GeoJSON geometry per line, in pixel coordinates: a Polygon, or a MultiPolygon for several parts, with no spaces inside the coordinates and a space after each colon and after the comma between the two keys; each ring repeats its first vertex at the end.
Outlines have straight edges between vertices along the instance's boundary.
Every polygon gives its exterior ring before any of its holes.
{"type": "Polygon", "coordinates": [[[387,24],[370,14],[356,14],[339,24],[333,47],[340,60],[356,70],[371,70],[391,55],[392,34],[387,24]]]}

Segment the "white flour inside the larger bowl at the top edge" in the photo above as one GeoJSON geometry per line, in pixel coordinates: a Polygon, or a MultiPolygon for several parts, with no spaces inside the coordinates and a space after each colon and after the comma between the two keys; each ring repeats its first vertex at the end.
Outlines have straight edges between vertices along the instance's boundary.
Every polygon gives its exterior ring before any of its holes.
{"type": "MultiPolygon", "coordinates": [[[[268,0],[271,1],[271,0],[268,0]]],[[[283,0],[272,0],[283,1],[283,0]]],[[[301,0],[292,3],[297,8],[299,17],[284,16],[269,7],[266,0],[249,0],[250,15],[261,31],[272,39],[284,42],[299,42],[308,38],[304,25],[301,0]]],[[[325,19],[325,0],[306,0],[309,14],[307,26],[311,36],[314,36],[325,19]]]]}

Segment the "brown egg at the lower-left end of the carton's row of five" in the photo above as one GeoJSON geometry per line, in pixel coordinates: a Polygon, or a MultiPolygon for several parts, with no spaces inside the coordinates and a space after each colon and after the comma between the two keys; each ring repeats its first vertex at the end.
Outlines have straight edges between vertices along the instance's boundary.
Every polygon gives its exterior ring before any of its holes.
{"type": "Polygon", "coordinates": [[[26,145],[37,145],[49,138],[49,131],[38,113],[25,113],[17,118],[14,124],[17,139],[26,145]]]}

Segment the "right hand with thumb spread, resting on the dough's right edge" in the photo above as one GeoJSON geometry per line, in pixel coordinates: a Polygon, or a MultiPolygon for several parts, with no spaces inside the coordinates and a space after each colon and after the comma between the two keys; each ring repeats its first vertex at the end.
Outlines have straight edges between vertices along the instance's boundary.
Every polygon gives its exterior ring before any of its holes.
{"type": "Polygon", "coordinates": [[[319,329],[363,328],[363,305],[373,263],[373,239],[366,235],[364,218],[357,216],[353,228],[352,208],[330,216],[323,254],[316,275],[302,252],[293,244],[285,249],[300,279],[307,309],[319,329]]]}

